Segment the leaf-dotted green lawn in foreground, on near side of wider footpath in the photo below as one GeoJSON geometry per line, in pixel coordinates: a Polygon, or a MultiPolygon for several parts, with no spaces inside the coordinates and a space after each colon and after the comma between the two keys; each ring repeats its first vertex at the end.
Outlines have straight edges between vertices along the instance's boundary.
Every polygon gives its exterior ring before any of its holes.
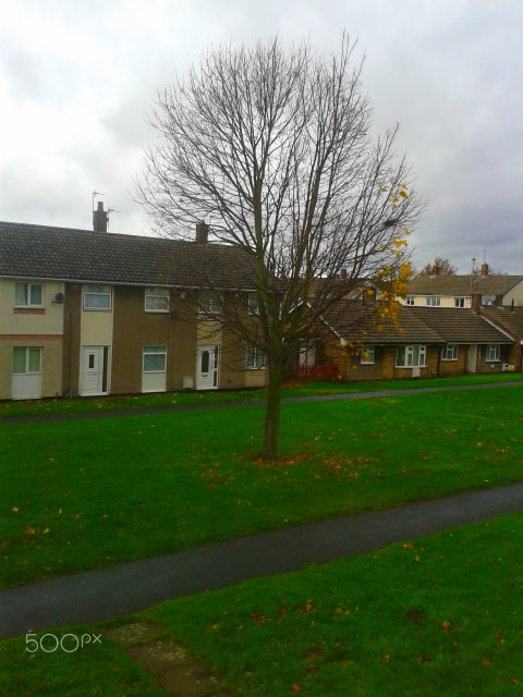
{"type": "MultiPolygon", "coordinates": [[[[190,647],[242,696],[515,697],[522,533],[523,514],[508,515],[126,621],[154,620],[157,638],[190,647]]],[[[101,627],[56,634],[94,631],[101,627]]],[[[5,697],[161,694],[107,636],[68,655],[32,655],[25,637],[10,639],[0,643],[0,663],[5,697]]]]}

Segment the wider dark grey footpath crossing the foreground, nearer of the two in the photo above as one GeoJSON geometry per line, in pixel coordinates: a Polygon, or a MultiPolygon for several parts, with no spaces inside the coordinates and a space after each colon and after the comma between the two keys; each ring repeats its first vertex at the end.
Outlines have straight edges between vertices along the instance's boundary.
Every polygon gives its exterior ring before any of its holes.
{"type": "Polygon", "coordinates": [[[523,511],[523,481],[60,576],[0,591],[0,639],[95,623],[248,578],[363,554],[523,511]]]}

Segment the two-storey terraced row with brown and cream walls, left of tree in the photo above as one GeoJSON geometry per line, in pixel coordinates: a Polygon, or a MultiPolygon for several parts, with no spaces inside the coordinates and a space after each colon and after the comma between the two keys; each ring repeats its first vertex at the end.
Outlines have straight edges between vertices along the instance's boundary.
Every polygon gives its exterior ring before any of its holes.
{"type": "Polygon", "coordinates": [[[94,220],[0,222],[0,399],[265,384],[263,357],[219,317],[251,313],[245,254],[204,223],[185,242],[108,233],[100,205],[94,220]]]}

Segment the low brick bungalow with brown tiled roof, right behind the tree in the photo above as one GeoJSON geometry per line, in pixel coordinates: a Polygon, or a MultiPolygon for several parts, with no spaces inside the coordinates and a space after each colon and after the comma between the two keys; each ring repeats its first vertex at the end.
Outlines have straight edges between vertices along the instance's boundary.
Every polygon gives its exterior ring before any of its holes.
{"type": "Polygon", "coordinates": [[[507,369],[514,339],[471,309],[401,306],[394,320],[362,325],[368,310],[338,304],[324,316],[324,360],[344,380],[443,377],[507,369]]]}

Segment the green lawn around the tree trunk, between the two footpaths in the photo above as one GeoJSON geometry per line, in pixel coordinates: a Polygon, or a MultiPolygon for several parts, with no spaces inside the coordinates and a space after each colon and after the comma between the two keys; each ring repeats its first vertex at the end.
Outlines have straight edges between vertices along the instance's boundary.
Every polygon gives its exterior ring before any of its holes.
{"type": "Polygon", "coordinates": [[[0,425],[0,584],[523,479],[523,388],[0,425]]]}

